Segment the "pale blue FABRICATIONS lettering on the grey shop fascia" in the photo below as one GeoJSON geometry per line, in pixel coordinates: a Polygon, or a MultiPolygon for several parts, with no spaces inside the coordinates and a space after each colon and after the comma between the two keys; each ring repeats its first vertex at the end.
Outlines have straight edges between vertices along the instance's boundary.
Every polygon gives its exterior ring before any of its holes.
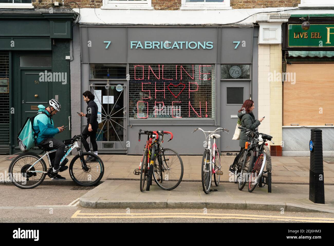
{"type": "Polygon", "coordinates": [[[131,49],[212,49],[213,42],[194,41],[130,41],[131,49]]]}

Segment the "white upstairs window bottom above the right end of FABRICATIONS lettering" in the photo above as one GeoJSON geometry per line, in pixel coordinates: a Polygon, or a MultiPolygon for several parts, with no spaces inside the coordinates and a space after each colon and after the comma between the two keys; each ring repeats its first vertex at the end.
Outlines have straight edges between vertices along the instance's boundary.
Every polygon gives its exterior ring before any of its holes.
{"type": "Polygon", "coordinates": [[[232,9],[230,0],[182,0],[181,10],[186,9],[232,9]]]}

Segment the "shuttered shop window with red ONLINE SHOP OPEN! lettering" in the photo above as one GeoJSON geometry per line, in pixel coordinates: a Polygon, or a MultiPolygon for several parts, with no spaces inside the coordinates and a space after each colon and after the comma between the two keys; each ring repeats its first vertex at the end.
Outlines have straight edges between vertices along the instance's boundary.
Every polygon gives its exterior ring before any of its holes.
{"type": "Polygon", "coordinates": [[[214,64],[130,64],[129,119],[214,119],[214,64]]]}

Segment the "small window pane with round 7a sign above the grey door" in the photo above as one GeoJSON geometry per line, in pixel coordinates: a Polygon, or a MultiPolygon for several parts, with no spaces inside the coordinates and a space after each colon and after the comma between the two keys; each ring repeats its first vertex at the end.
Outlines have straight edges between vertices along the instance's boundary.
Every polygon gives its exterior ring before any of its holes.
{"type": "Polygon", "coordinates": [[[223,64],[221,65],[220,78],[222,80],[249,80],[251,71],[251,65],[239,65],[239,64],[223,64]]]}

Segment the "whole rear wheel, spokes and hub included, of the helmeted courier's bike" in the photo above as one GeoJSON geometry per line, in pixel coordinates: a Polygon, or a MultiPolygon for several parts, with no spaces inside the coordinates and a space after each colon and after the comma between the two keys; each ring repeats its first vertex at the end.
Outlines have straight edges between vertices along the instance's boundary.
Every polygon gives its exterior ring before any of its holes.
{"type": "Polygon", "coordinates": [[[41,184],[46,175],[46,164],[40,159],[31,167],[38,159],[39,155],[35,153],[23,153],[17,156],[9,165],[8,174],[10,181],[18,188],[32,189],[41,184]],[[31,168],[30,168],[31,167],[31,168]],[[27,171],[30,168],[31,171],[27,171]],[[44,172],[43,172],[44,171],[44,172]]]}

